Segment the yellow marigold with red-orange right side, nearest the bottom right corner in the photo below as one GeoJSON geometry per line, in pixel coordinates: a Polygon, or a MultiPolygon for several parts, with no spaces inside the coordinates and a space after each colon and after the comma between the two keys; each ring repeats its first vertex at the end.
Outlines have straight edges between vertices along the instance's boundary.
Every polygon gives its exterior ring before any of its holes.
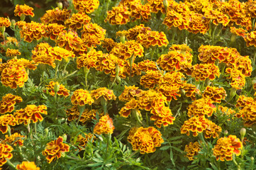
{"type": "Polygon", "coordinates": [[[235,135],[229,135],[228,137],[221,137],[217,140],[217,144],[213,148],[213,155],[216,157],[216,160],[219,159],[224,162],[232,161],[233,154],[239,156],[243,148],[242,142],[235,135]]]}

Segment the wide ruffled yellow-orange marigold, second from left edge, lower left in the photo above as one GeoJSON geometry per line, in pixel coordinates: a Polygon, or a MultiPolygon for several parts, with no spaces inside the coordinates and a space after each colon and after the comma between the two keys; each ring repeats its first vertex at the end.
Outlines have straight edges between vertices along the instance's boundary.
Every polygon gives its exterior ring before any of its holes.
{"type": "Polygon", "coordinates": [[[31,120],[33,120],[33,123],[37,123],[38,120],[40,122],[43,121],[43,117],[41,114],[47,115],[47,109],[46,106],[40,105],[28,105],[26,108],[21,108],[20,110],[16,111],[16,113],[13,113],[14,117],[18,120],[18,123],[24,123],[24,125],[28,125],[31,120]]]}

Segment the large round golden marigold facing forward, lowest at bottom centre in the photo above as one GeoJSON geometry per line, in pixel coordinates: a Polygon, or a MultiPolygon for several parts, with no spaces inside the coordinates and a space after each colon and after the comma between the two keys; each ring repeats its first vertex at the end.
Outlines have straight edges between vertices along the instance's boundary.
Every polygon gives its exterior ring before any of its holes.
{"type": "Polygon", "coordinates": [[[155,147],[160,147],[164,142],[161,132],[153,127],[140,127],[134,134],[129,133],[128,138],[133,150],[140,150],[140,154],[155,152],[155,147]]]}

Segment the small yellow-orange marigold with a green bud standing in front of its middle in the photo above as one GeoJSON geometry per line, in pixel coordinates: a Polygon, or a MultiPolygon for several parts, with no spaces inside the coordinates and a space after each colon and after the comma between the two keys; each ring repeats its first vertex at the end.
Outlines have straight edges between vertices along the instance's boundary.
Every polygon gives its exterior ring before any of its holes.
{"type": "MultiPolygon", "coordinates": [[[[52,96],[55,96],[55,85],[59,86],[57,95],[58,96],[69,96],[69,90],[65,88],[62,84],[59,84],[58,82],[55,81],[50,81],[49,85],[46,85],[46,89],[48,90],[49,94],[52,96]]],[[[43,92],[46,92],[46,90],[43,90],[43,92]]]]}

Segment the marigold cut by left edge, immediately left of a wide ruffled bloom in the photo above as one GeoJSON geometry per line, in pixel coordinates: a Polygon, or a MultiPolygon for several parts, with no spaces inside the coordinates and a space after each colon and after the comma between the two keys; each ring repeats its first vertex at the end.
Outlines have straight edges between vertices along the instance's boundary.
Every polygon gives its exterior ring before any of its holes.
{"type": "Polygon", "coordinates": [[[18,121],[16,118],[13,117],[13,115],[6,114],[0,116],[0,131],[2,133],[6,133],[8,131],[8,126],[15,126],[18,124],[18,121]]]}

